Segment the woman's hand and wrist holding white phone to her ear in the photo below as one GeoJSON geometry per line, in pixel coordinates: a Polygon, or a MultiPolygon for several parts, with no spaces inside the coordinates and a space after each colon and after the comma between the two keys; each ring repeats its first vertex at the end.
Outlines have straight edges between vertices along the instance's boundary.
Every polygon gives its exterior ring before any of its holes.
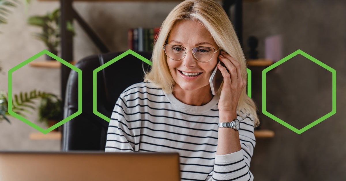
{"type": "Polygon", "coordinates": [[[240,95],[246,85],[246,80],[242,77],[241,66],[232,56],[225,51],[221,51],[219,60],[225,64],[227,69],[218,63],[217,67],[224,77],[222,85],[219,112],[237,115],[237,106],[240,95]]]}

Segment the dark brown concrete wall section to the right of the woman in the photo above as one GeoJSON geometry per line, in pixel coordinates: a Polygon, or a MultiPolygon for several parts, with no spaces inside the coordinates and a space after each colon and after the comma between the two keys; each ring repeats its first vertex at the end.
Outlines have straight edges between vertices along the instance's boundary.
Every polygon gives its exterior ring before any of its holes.
{"type": "MultiPolygon", "coordinates": [[[[257,139],[251,162],[255,180],[345,180],[346,2],[261,0],[244,3],[244,40],[282,36],[283,56],[301,49],[336,70],[335,115],[298,135],[260,114],[275,137],[257,139]]],[[[245,51],[247,47],[245,46],[245,51]]],[[[262,108],[261,71],[253,69],[253,98],[262,108]]],[[[298,129],[332,109],[331,73],[302,56],[267,74],[267,110],[298,129]]]]}

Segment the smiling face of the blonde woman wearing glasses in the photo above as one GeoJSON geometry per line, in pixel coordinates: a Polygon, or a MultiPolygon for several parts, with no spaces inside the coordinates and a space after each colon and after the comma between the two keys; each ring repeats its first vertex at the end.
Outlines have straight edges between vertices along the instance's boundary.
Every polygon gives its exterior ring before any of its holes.
{"type": "MultiPolygon", "coordinates": [[[[192,20],[177,21],[168,37],[170,45],[180,45],[186,49],[195,47],[213,47],[219,49],[209,31],[200,22],[192,20]]],[[[200,62],[192,51],[186,51],[181,60],[172,60],[167,56],[167,64],[175,81],[174,89],[210,93],[209,78],[216,66],[219,52],[209,62],[200,62]],[[193,75],[186,75],[194,73],[193,75]]]]}

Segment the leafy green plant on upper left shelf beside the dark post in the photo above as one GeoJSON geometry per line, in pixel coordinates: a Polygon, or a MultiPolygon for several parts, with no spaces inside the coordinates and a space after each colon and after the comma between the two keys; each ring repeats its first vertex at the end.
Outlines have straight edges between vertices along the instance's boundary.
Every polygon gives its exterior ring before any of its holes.
{"type": "MultiPolygon", "coordinates": [[[[41,40],[49,52],[57,55],[58,46],[60,45],[60,8],[48,12],[44,16],[31,16],[28,18],[27,23],[42,28],[41,33],[35,33],[33,36],[41,40]]],[[[71,22],[67,21],[66,28],[75,35],[71,22]]],[[[47,56],[47,60],[51,59],[51,57],[47,56]]]]}

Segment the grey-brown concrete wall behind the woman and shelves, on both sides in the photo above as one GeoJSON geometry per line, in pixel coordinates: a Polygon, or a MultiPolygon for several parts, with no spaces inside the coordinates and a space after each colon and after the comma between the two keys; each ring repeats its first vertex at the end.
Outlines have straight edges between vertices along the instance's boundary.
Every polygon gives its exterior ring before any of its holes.
{"type": "MultiPolygon", "coordinates": [[[[75,2],[74,7],[98,33],[111,51],[127,49],[127,30],[139,26],[160,26],[176,2],[75,2]]],[[[4,72],[44,49],[30,34],[38,31],[26,25],[30,15],[43,15],[58,2],[33,1],[25,13],[20,5],[1,25],[0,61],[4,72]]],[[[324,0],[258,0],[244,2],[244,42],[259,38],[259,56],[264,57],[264,39],[282,36],[283,56],[301,49],[337,71],[337,113],[298,135],[260,114],[261,128],[275,131],[275,137],[257,139],[251,162],[255,180],[345,180],[346,174],[346,2],[324,0]]],[[[74,57],[99,53],[77,25],[74,57]]],[[[248,51],[246,44],[244,51],[248,51]]],[[[43,59],[43,58],[42,58],[43,59]]],[[[253,98],[261,111],[261,71],[253,71],[253,98]]],[[[60,71],[25,66],[13,75],[13,92],[34,88],[60,94],[60,71]]],[[[7,90],[7,78],[0,73],[0,90],[7,90]]],[[[302,128],[331,111],[331,73],[301,56],[285,62],[267,74],[267,110],[287,123],[302,128]]],[[[35,114],[29,120],[36,120],[35,114]]],[[[0,123],[0,150],[60,150],[60,141],[33,141],[34,128],[17,119],[0,123]]],[[[41,125],[42,127],[44,125],[41,125]]]]}

